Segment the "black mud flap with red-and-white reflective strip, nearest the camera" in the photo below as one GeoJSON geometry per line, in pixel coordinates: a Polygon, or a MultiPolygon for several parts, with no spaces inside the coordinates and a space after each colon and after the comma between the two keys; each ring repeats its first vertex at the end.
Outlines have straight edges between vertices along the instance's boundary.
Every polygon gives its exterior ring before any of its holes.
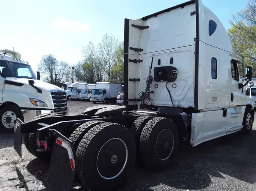
{"type": "Polygon", "coordinates": [[[53,144],[48,174],[49,185],[55,191],[69,191],[75,178],[76,154],[73,143],[58,134],[53,144]]]}

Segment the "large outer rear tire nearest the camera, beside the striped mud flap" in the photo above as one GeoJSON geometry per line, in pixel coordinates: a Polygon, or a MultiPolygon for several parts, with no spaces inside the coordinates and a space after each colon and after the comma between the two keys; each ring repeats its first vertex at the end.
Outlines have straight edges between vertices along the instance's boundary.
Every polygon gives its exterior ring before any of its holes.
{"type": "Polygon", "coordinates": [[[135,140],[127,128],[117,123],[96,125],[77,148],[80,182],[91,190],[116,190],[129,178],[135,157],[135,140]]]}

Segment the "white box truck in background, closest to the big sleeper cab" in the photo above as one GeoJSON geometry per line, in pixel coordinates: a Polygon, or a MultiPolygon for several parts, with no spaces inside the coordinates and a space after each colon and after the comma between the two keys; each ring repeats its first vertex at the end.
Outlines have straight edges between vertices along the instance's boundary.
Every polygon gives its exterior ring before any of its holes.
{"type": "Polygon", "coordinates": [[[121,83],[96,82],[95,89],[91,90],[90,101],[93,101],[93,103],[116,101],[118,86],[121,86],[121,83]]]}

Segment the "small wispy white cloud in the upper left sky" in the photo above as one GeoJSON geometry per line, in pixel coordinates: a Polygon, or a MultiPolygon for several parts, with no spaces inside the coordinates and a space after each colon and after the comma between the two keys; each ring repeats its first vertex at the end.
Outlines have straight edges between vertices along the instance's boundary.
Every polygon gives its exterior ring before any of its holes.
{"type": "Polygon", "coordinates": [[[74,20],[63,20],[61,18],[56,18],[53,20],[52,25],[65,29],[69,32],[87,32],[91,29],[91,27],[85,23],[77,22],[74,20]]]}

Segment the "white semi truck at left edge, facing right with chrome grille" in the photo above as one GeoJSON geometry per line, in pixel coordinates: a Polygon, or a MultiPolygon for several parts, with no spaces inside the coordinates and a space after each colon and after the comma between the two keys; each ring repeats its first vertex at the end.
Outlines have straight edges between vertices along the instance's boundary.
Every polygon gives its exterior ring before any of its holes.
{"type": "Polygon", "coordinates": [[[30,121],[42,113],[68,114],[66,92],[42,82],[19,52],[0,50],[0,132],[13,133],[17,118],[30,121]]]}

